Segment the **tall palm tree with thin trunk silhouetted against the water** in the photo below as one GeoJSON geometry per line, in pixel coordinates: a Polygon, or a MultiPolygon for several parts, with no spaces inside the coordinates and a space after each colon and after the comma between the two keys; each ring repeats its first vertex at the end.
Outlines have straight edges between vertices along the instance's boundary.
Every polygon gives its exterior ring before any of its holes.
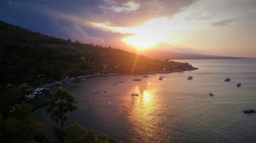
{"type": "Polygon", "coordinates": [[[76,111],[76,100],[74,96],[65,89],[57,88],[55,97],[46,108],[47,114],[55,121],[61,122],[61,142],[63,142],[63,125],[67,122],[66,113],[76,111]]]}

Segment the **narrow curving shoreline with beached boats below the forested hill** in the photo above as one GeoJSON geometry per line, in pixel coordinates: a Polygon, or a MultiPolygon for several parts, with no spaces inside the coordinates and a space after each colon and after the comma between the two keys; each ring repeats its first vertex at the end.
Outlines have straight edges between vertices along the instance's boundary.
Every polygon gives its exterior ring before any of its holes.
{"type": "MultiPolygon", "coordinates": [[[[198,68],[194,67],[192,69],[180,69],[180,70],[171,70],[171,71],[150,71],[150,72],[147,72],[147,73],[144,73],[144,74],[175,73],[175,72],[191,71],[191,70],[198,70],[198,68]]],[[[128,74],[128,73],[100,74],[100,75],[88,76],[88,77],[85,77],[85,79],[93,78],[93,77],[124,76],[124,75],[138,75],[138,74],[128,74]]],[[[140,75],[143,75],[143,74],[140,74],[140,75]]],[[[74,81],[71,81],[70,83],[81,82],[81,81],[82,81],[82,79],[79,79],[79,80],[76,79],[74,81]]],[[[39,94],[39,95],[37,95],[36,98],[34,98],[31,101],[29,101],[28,104],[32,106],[33,112],[38,110],[38,109],[40,109],[40,108],[43,108],[43,107],[47,106],[48,102],[50,100],[52,100],[52,98],[53,98],[53,96],[55,94],[56,88],[62,87],[62,88],[67,89],[68,91],[70,91],[70,89],[71,89],[70,83],[56,84],[56,85],[52,86],[49,90],[44,91],[43,94],[39,94]]]]}

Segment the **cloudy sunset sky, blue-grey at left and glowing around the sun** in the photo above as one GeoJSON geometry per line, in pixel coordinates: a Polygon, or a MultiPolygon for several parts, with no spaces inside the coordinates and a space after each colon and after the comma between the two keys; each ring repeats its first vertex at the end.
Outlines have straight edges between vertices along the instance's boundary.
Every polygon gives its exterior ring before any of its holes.
{"type": "Polygon", "coordinates": [[[256,0],[1,0],[0,20],[126,51],[256,58],[256,0]]]}

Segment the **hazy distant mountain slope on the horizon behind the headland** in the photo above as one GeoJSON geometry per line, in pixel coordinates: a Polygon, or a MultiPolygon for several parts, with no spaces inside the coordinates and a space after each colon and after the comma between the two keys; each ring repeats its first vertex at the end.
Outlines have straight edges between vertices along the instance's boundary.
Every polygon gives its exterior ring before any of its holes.
{"type": "Polygon", "coordinates": [[[156,59],[170,59],[170,60],[200,60],[200,59],[239,59],[239,57],[225,57],[218,55],[201,55],[201,54],[186,54],[179,52],[166,52],[166,51],[144,51],[141,53],[149,58],[156,59]]]}

